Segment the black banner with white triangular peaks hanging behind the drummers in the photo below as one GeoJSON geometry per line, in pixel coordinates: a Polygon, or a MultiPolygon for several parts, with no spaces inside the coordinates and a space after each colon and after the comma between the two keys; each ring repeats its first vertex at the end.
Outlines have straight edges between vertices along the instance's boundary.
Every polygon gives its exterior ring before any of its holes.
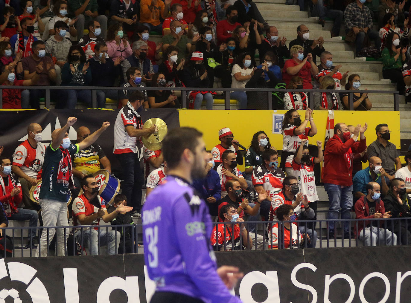
{"type": "MultiPolygon", "coordinates": [[[[27,127],[30,123],[38,123],[42,126],[43,140],[47,146],[51,142],[51,133],[64,126],[68,117],[76,117],[78,120],[69,129],[70,140],[76,140],[76,130],[80,126],[86,126],[91,132],[99,129],[104,121],[110,122],[110,127],[97,139],[104,153],[111,161],[113,173],[121,179],[118,170],[118,161],[113,156],[114,122],[119,110],[0,110],[0,145],[4,147],[3,155],[12,157],[16,147],[27,139],[27,127]]],[[[145,109],[140,113],[143,122],[150,118],[160,118],[167,124],[169,130],[180,126],[178,111],[176,109],[145,109]]]]}

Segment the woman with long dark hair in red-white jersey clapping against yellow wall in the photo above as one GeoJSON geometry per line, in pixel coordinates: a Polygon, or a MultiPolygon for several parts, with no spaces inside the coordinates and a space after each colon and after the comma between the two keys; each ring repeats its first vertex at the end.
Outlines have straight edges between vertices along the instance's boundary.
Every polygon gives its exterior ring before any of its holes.
{"type": "MultiPolygon", "coordinates": [[[[317,126],[312,117],[312,110],[307,108],[305,111],[305,119],[301,121],[301,116],[297,110],[289,110],[284,114],[282,123],[283,133],[283,149],[281,155],[280,168],[286,171],[287,176],[293,172],[291,162],[298,147],[301,145],[302,139],[312,137],[317,133],[317,126]],[[311,127],[307,127],[308,122],[311,127]]],[[[308,142],[306,142],[308,145],[308,142]]]]}

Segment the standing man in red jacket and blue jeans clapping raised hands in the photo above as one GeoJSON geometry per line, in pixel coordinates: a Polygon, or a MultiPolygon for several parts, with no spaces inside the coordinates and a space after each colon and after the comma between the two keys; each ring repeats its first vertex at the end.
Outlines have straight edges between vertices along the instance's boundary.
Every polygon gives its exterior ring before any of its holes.
{"type": "MultiPolygon", "coordinates": [[[[323,182],[324,189],[328,194],[330,208],[327,219],[338,219],[340,208],[341,218],[350,219],[353,207],[353,163],[354,153],[360,153],[367,147],[364,132],[367,130],[367,123],[364,126],[358,124],[354,129],[353,137],[344,123],[338,123],[334,127],[334,136],[328,140],[324,152],[323,182]],[[360,135],[360,141],[357,141],[360,135]]],[[[330,238],[334,238],[334,222],[328,223],[330,238]]],[[[351,236],[348,222],[344,222],[344,238],[351,236]]]]}

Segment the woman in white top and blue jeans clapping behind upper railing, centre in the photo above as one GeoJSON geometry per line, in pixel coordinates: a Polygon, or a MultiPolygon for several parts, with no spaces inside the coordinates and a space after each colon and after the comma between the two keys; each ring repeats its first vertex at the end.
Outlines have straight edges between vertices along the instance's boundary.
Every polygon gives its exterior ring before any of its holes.
{"type": "MultiPolygon", "coordinates": [[[[241,53],[231,71],[231,88],[245,88],[254,75],[254,60],[248,53],[241,53]]],[[[247,94],[244,91],[230,93],[230,98],[236,99],[240,109],[247,109],[247,94]]]]}

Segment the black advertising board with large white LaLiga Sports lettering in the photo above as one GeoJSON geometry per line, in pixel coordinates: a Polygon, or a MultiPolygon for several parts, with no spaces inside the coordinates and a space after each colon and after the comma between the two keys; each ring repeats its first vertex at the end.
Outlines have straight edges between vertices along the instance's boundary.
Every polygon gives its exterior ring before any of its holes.
{"type": "MultiPolygon", "coordinates": [[[[408,303],[409,253],[402,246],[216,255],[245,273],[235,288],[245,303],[408,303]]],[[[143,303],[155,286],[134,254],[0,259],[0,302],[16,296],[11,289],[24,303],[143,303]]]]}

